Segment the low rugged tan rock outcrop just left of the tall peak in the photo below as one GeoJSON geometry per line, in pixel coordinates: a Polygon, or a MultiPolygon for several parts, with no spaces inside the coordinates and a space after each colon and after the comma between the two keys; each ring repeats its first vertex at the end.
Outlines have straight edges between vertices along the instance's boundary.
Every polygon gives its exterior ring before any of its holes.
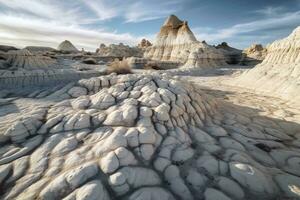
{"type": "Polygon", "coordinates": [[[109,46],[101,44],[100,48],[96,50],[96,53],[99,56],[116,58],[141,57],[143,54],[141,49],[137,47],[130,47],[128,45],[124,45],[123,43],[118,45],[110,44],[109,46]]]}

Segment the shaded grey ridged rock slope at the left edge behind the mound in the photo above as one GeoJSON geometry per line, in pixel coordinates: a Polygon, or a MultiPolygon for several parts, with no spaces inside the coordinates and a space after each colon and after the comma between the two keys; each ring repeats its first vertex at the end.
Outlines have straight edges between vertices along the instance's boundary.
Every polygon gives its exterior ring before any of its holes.
{"type": "Polygon", "coordinates": [[[68,64],[27,49],[9,51],[6,59],[0,59],[0,88],[30,88],[58,85],[81,78],[99,76],[101,71],[80,71],[68,64]]]}

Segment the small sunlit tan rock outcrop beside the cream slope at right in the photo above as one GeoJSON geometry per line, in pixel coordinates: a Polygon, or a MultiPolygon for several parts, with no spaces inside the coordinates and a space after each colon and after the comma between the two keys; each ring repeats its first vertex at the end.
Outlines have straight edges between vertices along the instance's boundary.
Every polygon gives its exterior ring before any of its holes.
{"type": "Polygon", "coordinates": [[[253,44],[249,48],[243,50],[241,64],[242,65],[257,65],[261,63],[267,54],[267,49],[261,44],[253,44]]]}

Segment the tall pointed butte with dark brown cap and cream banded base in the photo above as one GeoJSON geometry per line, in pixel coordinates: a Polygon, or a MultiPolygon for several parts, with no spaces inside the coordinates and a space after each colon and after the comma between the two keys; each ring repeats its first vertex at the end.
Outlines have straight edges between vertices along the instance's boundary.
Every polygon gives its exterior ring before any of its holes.
{"type": "Polygon", "coordinates": [[[197,41],[186,21],[171,15],[158,33],[154,45],[144,56],[151,60],[178,62],[184,67],[217,67],[226,65],[216,48],[197,41]]]}

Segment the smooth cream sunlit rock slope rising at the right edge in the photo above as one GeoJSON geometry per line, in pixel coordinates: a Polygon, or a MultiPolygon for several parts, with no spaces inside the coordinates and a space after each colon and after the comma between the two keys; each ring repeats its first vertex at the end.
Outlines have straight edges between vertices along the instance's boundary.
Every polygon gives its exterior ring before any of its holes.
{"type": "Polygon", "coordinates": [[[267,46],[263,62],[239,77],[235,83],[285,99],[300,99],[300,27],[287,38],[267,46]]]}

